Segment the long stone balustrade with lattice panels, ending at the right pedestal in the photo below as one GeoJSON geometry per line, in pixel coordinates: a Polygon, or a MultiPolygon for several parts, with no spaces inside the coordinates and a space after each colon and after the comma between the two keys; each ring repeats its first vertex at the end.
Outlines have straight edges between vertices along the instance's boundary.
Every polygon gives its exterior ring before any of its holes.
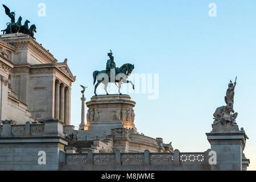
{"type": "Polygon", "coordinates": [[[148,150],[144,153],[120,153],[115,151],[111,154],[93,154],[89,151],[88,154],[63,154],[65,160],[62,168],[64,170],[76,169],[205,169],[209,170],[208,151],[206,152],[179,152],[174,153],[150,153],[148,150]],[[148,166],[149,168],[146,168],[148,166]]]}

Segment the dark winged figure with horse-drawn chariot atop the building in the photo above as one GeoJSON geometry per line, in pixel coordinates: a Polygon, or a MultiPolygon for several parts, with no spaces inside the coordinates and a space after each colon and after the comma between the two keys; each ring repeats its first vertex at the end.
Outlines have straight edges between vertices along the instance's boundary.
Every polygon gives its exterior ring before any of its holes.
{"type": "Polygon", "coordinates": [[[34,33],[36,32],[36,26],[35,24],[32,24],[30,28],[28,28],[28,23],[30,23],[29,20],[26,20],[24,25],[22,26],[22,17],[19,16],[18,22],[15,22],[15,13],[11,12],[10,9],[3,5],[5,8],[5,14],[11,18],[10,23],[6,23],[7,28],[5,30],[1,30],[3,34],[16,34],[18,32],[30,35],[33,39],[34,38],[34,33]]]}

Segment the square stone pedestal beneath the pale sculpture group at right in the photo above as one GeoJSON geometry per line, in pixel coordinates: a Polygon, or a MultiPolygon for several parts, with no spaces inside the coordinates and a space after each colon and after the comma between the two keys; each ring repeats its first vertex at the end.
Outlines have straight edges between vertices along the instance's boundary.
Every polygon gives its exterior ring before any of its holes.
{"type": "Polygon", "coordinates": [[[245,146],[245,133],[238,126],[213,126],[207,133],[211,151],[216,152],[217,164],[210,166],[213,171],[242,171],[242,150],[245,146]]]}

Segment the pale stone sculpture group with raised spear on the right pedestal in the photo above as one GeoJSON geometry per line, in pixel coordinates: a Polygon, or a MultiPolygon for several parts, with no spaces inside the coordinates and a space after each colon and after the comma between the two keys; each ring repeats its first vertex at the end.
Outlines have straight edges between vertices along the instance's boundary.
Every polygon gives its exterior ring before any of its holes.
{"type": "Polygon", "coordinates": [[[228,85],[228,90],[226,91],[225,102],[226,106],[218,107],[213,114],[214,123],[213,125],[226,125],[227,123],[231,123],[231,125],[237,125],[236,118],[238,113],[235,113],[233,109],[234,105],[234,89],[237,85],[236,81],[233,82],[230,80],[230,84],[228,85]]]}

